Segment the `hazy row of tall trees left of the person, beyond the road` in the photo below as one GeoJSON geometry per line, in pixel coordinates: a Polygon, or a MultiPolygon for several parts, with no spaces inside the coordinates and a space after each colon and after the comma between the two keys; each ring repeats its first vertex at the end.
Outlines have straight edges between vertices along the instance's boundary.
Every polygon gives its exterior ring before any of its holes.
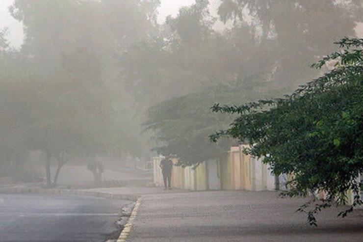
{"type": "Polygon", "coordinates": [[[120,81],[119,60],[153,31],[157,4],[14,1],[9,11],[22,21],[25,39],[17,51],[8,47],[4,31],[0,35],[2,167],[15,167],[19,174],[27,152],[41,150],[52,186],[72,158],[89,160],[100,180],[103,165],[96,155],[147,154],[147,148],[144,154],[135,148],[142,139],[132,120],[132,96],[120,81]],[[51,159],[58,165],[53,178],[51,159]]]}

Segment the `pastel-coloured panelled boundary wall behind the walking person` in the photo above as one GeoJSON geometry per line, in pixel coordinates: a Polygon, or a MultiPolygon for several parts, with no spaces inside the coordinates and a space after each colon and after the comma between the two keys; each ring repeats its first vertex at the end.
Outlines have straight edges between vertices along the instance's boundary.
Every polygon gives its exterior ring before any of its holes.
{"type": "MultiPolygon", "coordinates": [[[[247,145],[231,147],[230,151],[217,159],[200,163],[196,168],[176,166],[172,171],[172,187],[187,190],[276,190],[285,189],[287,176],[275,177],[270,167],[258,159],[245,155],[247,145]],[[286,178],[286,179],[285,179],[286,178]],[[285,179],[285,180],[284,180],[285,179]]],[[[163,186],[160,161],[162,156],[154,157],[154,184],[163,186]]]]}

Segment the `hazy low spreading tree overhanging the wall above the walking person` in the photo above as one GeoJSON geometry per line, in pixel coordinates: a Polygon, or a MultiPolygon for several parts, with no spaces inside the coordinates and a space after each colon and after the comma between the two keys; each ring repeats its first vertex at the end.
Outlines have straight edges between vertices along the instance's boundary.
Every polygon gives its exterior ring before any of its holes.
{"type": "Polygon", "coordinates": [[[162,155],[175,155],[183,166],[197,166],[203,161],[218,158],[235,141],[224,140],[215,145],[207,136],[227,128],[225,125],[232,122],[233,116],[212,113],[207,107],[216,100],[235,104],[269,96],[260,91],[263,84],[264,77],[255,75],[205,87],[202,92],[173,98],[149,108],[144,126],[146,130],[154,131],[153,137],[158,145],[154,150],[162,155]]]}

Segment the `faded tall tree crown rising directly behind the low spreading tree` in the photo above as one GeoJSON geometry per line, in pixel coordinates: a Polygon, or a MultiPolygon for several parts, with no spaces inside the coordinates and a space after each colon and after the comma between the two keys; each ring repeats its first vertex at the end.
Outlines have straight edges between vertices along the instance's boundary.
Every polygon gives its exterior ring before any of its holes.
{"type": "MultiPolygon", "coordinates": [[[[209,52],[213,43],[210,42],[210,21],[205,20],[207,16],[206,0],[183,7],[178,17],[167,18],[157,35],[135,43],[123,55],[124,79],[143,104],[140,110],[150,107],[150,103],[196,90],[202,82],[208,81],[204,69],[208,62],[217,59],[209,52]]],[[[209,68],[212,70],[211,66],[209,68]]]]}

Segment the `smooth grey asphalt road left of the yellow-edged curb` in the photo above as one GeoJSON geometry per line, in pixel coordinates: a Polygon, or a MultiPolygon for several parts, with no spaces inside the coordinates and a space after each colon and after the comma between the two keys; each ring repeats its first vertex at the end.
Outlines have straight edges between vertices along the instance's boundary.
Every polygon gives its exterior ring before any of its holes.
{"type": "Polygon", "coordinates": [[[76,195],[0,194],[0,242],[104,242],[129,201],[76,195]]]}

